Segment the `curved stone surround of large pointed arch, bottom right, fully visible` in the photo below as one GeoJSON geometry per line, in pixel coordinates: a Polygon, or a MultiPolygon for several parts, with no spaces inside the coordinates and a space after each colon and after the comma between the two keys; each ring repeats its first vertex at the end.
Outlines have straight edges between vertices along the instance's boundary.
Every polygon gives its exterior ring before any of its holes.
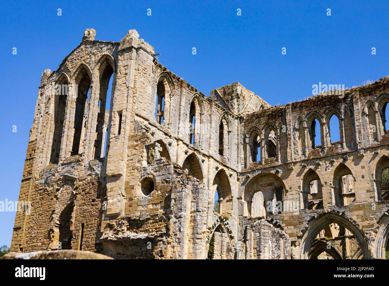
{"type": "Polygon", "coordinates": [[[317,218],[312,218],[307,223],[307,229],[301,239],[300,243],[300,259],[308,259],[309,252],[312,248],[312,244],[317,234],[325,228],[329,222],[337,223],[340,226],[347,228],[354,234],[363,252],[363,258],[371,258],[368,242],[358,225],[355,222],[350,221],[342,215],[335,214],[333,212],[327,212],[317,218]]]}

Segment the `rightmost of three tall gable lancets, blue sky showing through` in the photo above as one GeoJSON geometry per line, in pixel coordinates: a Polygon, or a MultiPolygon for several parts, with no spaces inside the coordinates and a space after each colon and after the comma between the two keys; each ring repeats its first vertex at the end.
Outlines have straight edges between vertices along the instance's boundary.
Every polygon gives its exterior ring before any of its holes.
{"type": "Polygon", "coordinates": [[[110,108],[110,95],[108,96],[108,91],[110,90],[112,92],[112,74],[114,70],[107,62],[105,62],[103,66],[105,66],[105,68],[102,72],[100,72],[99,107],[93,148],[93,159],[102,158],[106,148],[106,133],[109,119],[107,106],[108,110],[110,108]]]}

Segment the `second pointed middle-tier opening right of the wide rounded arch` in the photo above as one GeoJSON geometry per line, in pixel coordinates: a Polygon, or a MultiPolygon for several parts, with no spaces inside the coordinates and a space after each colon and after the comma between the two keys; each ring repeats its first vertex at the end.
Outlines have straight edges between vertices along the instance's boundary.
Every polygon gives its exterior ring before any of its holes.
{"type": "Polygon", "coordinates": [[[344,164],[340,164],[335,169],[333,186],[333,199],[336,206],[355,202],[354,177],[344,164]]]}

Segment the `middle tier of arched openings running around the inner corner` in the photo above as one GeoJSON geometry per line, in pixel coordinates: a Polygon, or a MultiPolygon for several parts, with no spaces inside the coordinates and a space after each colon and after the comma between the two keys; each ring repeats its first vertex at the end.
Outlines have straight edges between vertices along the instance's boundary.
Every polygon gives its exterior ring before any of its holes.
{"type": "MultiPolygon", "coordinates": [[[[163,141],[158,141],[162,147],[161,156],[170,158],[163,141]]],[[[170,159],[169,159],[170,160],[170,159]]],[[[182,164],[182,168],[188,174],[204,181],[202,166],[195,153],[189,154],[182,164]]],[[[285,200],[287,186],[284,181],[275,174],[261,173],[247,182],[245,186],[244,200],[246,202],[245,215],[258,217],[267,214],[279,213],[296,209],[323,209],[324,205],[344,206],[356,201],[355,182],[356,175],[344,163],[340,163],[333,171],[329,188],[331,198],[329,202],[323,202],[324,179],[315,168],[307,168],[301,175],[300,204],[288,205],[285,200]]],[[[376,200],[389,199],[389,157],[382,156],[378,161],[375,171],[376,200]]],[[[232,212],[231,184],[225,170],[219,170],[214,177],[211,186],[214,194],[214,211],[232,212]]],[[[294,204],[292,202],[291,204],[294,204]]]]}

